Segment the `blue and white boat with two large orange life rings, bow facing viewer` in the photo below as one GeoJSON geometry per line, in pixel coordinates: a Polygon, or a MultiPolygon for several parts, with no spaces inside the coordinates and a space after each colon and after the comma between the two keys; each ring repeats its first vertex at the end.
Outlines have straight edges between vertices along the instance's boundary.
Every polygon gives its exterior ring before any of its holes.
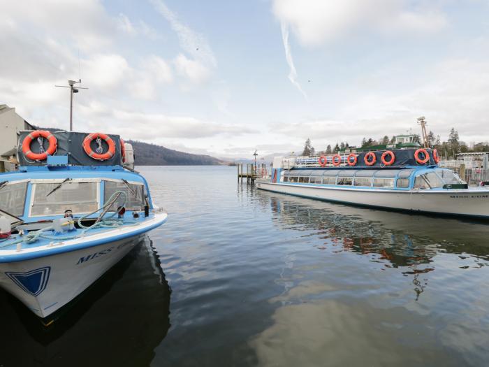
{"type": "Polygon", "coordinates": [[[66,305],[166,222],[119,136],[20,134],[0,174],[0,286],[39,317],[66,305]]]}

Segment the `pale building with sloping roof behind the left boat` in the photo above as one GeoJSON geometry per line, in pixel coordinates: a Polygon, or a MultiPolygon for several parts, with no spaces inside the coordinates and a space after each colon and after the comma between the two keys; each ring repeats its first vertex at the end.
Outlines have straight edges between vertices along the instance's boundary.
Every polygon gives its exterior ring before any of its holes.
{"type": "Polygon", "coordinates": [[[29,122],[17,115],[15,108],[0,104],[0,172],[15,169],[17,132],[35,130],[29,122]]]}

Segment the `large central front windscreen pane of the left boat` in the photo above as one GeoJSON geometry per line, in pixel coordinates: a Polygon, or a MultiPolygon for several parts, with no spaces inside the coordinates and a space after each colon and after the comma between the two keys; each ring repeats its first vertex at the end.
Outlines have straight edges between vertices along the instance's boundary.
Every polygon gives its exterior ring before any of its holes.
{"type": "Polygon", "coordinates": [[[98,209],[98,182],[36,183],[31,200],[31,215],[91,213],[98,209]],[[53,191],[56,189],[55,191],[53,191]]]}

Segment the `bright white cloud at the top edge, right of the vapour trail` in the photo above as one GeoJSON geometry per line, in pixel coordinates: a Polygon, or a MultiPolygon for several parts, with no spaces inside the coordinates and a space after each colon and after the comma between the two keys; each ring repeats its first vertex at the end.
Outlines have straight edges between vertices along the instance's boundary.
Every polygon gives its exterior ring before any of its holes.
{"type": "MultiPolygon", "coordinates": [[[[303,45],[335,41],[352,31],[437,31],[446,17],[437,8],[413,8],[404,0],[273,0],[273,13],[303,45]],[[411,7],[411,8],[410,8],[411,7]]],[[[433,5],[435,6],[435,5],[433,5]]]]}

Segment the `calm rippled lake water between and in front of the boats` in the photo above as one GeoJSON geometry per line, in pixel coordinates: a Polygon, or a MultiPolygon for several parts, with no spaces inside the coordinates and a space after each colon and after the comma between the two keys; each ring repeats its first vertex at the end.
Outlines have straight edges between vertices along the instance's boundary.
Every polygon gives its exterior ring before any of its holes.
{"type": "Polygon", "coordinates": [[[139,169],[168,222],[48,330],[0,292],[0,366],[488,365],[489,224],[139,169]]]}

